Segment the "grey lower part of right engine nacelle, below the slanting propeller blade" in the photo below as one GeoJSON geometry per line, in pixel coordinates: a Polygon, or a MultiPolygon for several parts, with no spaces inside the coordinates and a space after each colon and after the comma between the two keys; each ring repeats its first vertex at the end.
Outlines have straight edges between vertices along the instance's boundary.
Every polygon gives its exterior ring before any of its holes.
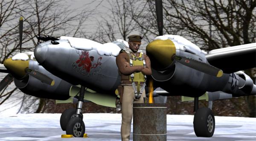
{"type": "Polygon", "coordinates": [[[158,86],[169,92],[169,95],[191,96],[193,92],[194,97],[199,97],[206,91],[222,91],[236,97],[256,94],[253,80],[242,71],[224,73],[218,78],[176,62],[166,71],[152,69],[152,77],[157,81],[158,86]]]}

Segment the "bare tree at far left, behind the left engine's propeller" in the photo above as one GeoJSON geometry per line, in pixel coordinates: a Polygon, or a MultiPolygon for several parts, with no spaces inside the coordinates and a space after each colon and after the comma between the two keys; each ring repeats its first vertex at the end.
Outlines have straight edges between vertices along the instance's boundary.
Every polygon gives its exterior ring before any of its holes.
{"type": "MultiPolygon", "coordinates": [[[[24,18],[22,51],[33,51],[40,41],[37,40],[36,35],[81,36],[87,17],[94,11],[89,4],[83,8],[70,9],[62,0],[2,0],[0,2],[0,62],[3,63],[5,59],[19,51],[18,19],[20,16],[24,18]]],[[[0,104],[10,98],[15,91],[17,88],[8,91],[4,89],[0,93],[0,104]]],[[[26,96],[23,101],[37,101],[37,98],[26,96]]],[[[45,103],[46,99],[40,98],[36,112],[41,112],[45,103]]],[[[26,106],[29,107],[30,105],[27,104],[26,106]]]]}

